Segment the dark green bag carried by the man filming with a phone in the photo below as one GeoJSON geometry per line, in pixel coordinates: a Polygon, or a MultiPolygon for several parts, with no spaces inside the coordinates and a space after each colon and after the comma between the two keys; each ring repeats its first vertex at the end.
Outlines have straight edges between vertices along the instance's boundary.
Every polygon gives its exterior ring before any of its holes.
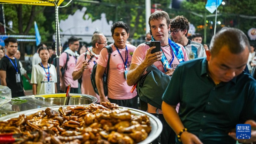
{"type": "Polygon", "coordinates": [[[140,100],[162,109],[162,96],[171,80],[168,76],[157,69],[154,65],[149,66],[137,84],[137,92],[140,100]]]}

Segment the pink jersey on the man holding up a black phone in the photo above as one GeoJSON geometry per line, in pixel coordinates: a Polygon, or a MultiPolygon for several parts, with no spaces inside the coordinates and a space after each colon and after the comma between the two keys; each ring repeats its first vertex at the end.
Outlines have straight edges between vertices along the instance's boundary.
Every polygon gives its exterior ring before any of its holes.
{"type": "MultiPolygon", "coordinates": [[[[184,60],[188,61],[188,55],[186,53],[186,50],[184,49],[184,47],[181,44],[178,44],[178,45],[180,46],[181,51],[184,55],[184,60]]],[[[132,56],[132,64],[140,65],[141,62],[145,59],[147,50],[149,48],[150,47],[145,43],[138,45],[138,47],[136,48],[136,50],[134,51],[133,56],[132,56]]],[[[172,61],[172,53],[173,53],[171,46],[170,45],[167,45],[167,46],[164,46],[164,47],[161,46],[161,49],[164,52],[164,55],[165,55],[166,59],[170,63],[172,61]]],[[[174,59],[171,63],[171,67],[172,68],[177,68],[177,66],[180,64],[180,62],[174,54],[173,54],[173,56],[174,56],[174,59]]],[[[154,65],[160,71],[164,72],[164,66],[163,66],[161,61],[156,61],[154,63],[154,65]]],[[[162,110],[159,110],[158,112],[159,112],[159,114],[163,114],[162,110]]],[[[148,113],[156,113],[156,107],[153,107],[150,104],[148,104],[148,113]]]]}

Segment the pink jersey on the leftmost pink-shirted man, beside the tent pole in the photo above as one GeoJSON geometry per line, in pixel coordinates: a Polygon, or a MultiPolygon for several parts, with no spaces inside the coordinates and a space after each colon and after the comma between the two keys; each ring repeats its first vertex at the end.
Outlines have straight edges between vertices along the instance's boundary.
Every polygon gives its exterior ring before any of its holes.
{"type": "MultiPolygon", "coordinates": [[[[67,61],[67,53],[66,52],[62,52],[60,55],[60,66],[64,67],[65,63],[67,61]]],[[[72,88],[78,88],[78,81],[77,80],[73,80],[72,77],[72,73],[76,67],[76,58],[73,56],[69,55],[69,60],[68,60],[68,64],[67,64],[67,70],[65,70],[63,79],[64,79],[64,83],[65,86],[67,87],[68,84],[71,84],[72,88]]]]}

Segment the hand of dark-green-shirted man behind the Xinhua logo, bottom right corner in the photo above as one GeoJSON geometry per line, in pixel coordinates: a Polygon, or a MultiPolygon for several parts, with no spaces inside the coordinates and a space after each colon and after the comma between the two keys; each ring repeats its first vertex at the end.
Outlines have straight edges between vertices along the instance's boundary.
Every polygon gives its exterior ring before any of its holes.
{"type": "MultiPolygon", "coordinates": [[[[247,120],[244,124],[250,124],[251,128],[256,127],[256,122],[254,120],[247,120]]],[[[229,132],[229,136],[233,139],[238,140],[239,143],[253,143],[256,144],[256,130],[251,131],[251,138],[250,139],[236,139],[236,132],[229,132]]]]}

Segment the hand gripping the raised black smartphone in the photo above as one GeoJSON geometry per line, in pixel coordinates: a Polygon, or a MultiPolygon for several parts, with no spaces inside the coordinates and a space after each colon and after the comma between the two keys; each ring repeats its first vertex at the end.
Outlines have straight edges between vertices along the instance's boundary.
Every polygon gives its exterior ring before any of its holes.
{"type": "Polygon", "coordinates": [[[156,48],[156,46],[152,46],[147,50],[146,57],[143,60],[143,63],[146,67],[149,67],[154,64],[154,62],[161,60],[161,56],[163,52],[155,52],[151,53],[152,49],[156,48]]]}

